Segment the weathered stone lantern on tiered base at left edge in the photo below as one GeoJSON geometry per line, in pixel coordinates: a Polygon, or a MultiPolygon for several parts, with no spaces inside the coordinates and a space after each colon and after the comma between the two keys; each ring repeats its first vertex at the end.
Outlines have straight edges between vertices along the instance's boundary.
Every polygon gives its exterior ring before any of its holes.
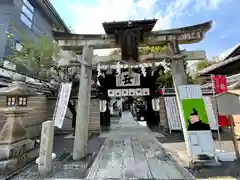
{"type": "Polygon", "coordinates": [[[25,78],[14,77],[9,87],[0,88],[0,95],[6,96],[6,107],[0,108],[6,117],[0,131],[0,175],[8,175],[26,165],[38,156],[35,141],[27,138],[22,125],[24,116],[31,109],[27,107],[30,91],[25,78]]]}

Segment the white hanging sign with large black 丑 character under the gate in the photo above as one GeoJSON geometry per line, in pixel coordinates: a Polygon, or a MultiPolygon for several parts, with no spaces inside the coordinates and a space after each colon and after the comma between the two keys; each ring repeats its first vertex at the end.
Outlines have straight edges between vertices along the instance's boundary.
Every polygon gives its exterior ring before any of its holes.
{"type": "Polygon", "coordinates": [[[116,76],[116,86],[140,86],[140,74],[124,72],[116,76]]]}

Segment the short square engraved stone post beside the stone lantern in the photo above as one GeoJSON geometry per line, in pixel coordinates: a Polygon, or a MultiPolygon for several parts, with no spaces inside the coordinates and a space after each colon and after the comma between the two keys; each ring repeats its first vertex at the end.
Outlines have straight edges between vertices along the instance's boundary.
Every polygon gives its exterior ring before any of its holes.
{"type": "Polygon", "coordinates": [[[52,171],[53,134],[53,122],[43,122],[38,163],[38,171],[41,177],[46,177],[52,171]]]}

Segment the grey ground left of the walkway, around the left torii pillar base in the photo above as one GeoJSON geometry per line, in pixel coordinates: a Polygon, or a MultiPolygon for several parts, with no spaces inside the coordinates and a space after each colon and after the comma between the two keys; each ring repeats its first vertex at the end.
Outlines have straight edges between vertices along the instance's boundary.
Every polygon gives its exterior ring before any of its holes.
{"type": "MultiPolygon", "coordinates": [[[[72,160],[73,140],[66,135],[54,137],[53,152],[56,153],[56,158],[53,160],[53,172],[48,178],[84,178],[105,139],[92,134],[88,142],[88,155],[76,162],[72,160]]],[[[22,172],[8,179],[39,179],[38,167],[35,162],[32,162],[22,172]]]]}

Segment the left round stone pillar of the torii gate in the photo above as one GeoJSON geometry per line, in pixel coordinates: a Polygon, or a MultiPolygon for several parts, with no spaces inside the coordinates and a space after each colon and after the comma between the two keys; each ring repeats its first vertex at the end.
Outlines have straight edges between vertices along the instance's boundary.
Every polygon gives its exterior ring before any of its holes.
{"type": "Polygon", "coordinates": [[[73,147],[73,160],[86,154],[88,141],[89,104],[91,96],[93,48],[85,45],[81,57],[81,77],[78,92],[77,118],[73,147]]]}

